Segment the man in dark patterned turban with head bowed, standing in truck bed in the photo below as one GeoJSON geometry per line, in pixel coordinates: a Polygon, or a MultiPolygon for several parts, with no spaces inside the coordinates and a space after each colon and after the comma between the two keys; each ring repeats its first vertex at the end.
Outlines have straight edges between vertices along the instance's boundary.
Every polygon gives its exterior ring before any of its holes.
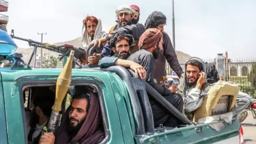
{"type": "Polygon", "coordinates": [[[155,73],[154,78],[159,84],[162,81],[163,76],[166,76],[165,62],[169,63],[170,67],[175,71],[179,77],[183,77],[183,70],[180,67],[177,55],[173,49],[171,39],[164,31],[166,25],[166,17],[162,12],[154,11],[148,17],[145,22],[145,28],[157,28],[162,31],[163,34],[163,51],[159,52],[158,58],[155,60],[155,73]]]}

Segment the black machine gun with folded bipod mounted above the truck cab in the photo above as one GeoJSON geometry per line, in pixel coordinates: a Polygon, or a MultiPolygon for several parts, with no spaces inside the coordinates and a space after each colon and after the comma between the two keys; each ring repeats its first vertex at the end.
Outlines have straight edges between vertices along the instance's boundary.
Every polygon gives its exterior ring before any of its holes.
{"type": "MultiPolygon", "coordinates": [[[[86,61],[87,60],[86,59],[86,51],[84,49],[80,48],[80,47],[76,48],[73,45],[69,45],[69,44],[55,46],[55,45],[51,45],[51,44],[48,44],[48,43],[36,42],[36,41],[31,40],[31,39],[25,39],[25,38],[21,38],[21,37],[16,37],[16,36],[14,36],[14,30],[13,29],[11,31],[11,35],[10,36],[12,38],[20,39],[21,41],[28,42],[29,46],[34,46],[34,51],[31,54],[31,57],[30,57],[30,59],[28,61],[28,65],[30,64],[34,54],[36,53],[37,47],[41,47],[41,48],[47,49],[49,51],[60,53],[61,57],[58,58],[59,60],[61,60],[65,56],[69,56],[71,50],[75,51],[74,57],[76,59],[80,59],[82,61],[86,61]]],[[[34,68],[35,68],[35,65],[36,65],[36,57],[34,57],[34,68]]]]}

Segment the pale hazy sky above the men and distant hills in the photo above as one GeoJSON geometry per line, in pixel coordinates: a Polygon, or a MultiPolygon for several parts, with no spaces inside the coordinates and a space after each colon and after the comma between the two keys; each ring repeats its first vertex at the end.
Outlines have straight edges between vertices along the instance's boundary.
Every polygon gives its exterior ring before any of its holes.
{"type": "MultiPolygon", "coordinates": [[[[140,7],[140,23],[148,15],[161,11],[166,15],[164,27],[172,41],[172,1],[140,0],[11,0],[7,33],[15,36],[58,43],[82,35],[83,19],[94,15],[101,19],[104,31],[114,26],[115,10],[119,5],[140,7]]],[[[193,57],[215,58],[228,52],[229,58],[256,59],[256,1],[255,0],[174,0],[175,50],[193,57]]],[[[27,42],[14,40],[19,47],[27,42]]]]}

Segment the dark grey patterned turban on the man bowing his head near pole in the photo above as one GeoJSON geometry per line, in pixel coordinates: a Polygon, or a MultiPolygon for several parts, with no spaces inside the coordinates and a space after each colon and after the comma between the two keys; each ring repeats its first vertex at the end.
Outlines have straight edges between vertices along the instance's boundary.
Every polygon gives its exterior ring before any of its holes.
{"type": "Polygon", "coordinates": [[[154,11],[148,16],[145,22],[145,28],[157,28],[158,25],[165,25],[166,17],[162,12],[154,11]]]}

